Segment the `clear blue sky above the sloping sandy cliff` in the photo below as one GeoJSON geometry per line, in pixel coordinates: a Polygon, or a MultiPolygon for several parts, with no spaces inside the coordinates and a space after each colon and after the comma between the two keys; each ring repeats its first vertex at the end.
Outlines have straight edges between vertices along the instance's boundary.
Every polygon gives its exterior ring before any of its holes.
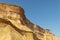
{"type": "Polygon", "coordinates": [[[0,0],[0,2],[22,6],[31,22],[60,36],[60,0],[0,0]]]}

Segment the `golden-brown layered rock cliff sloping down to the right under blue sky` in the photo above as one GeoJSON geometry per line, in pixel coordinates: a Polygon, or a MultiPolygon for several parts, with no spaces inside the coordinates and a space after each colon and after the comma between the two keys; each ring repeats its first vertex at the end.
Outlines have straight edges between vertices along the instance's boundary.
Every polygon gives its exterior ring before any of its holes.
{"type": "Polygon", "coordinates": [[[0,3],[0,40],[57,40],[49,30],[31,23],[20,6],[0,3]]]}

